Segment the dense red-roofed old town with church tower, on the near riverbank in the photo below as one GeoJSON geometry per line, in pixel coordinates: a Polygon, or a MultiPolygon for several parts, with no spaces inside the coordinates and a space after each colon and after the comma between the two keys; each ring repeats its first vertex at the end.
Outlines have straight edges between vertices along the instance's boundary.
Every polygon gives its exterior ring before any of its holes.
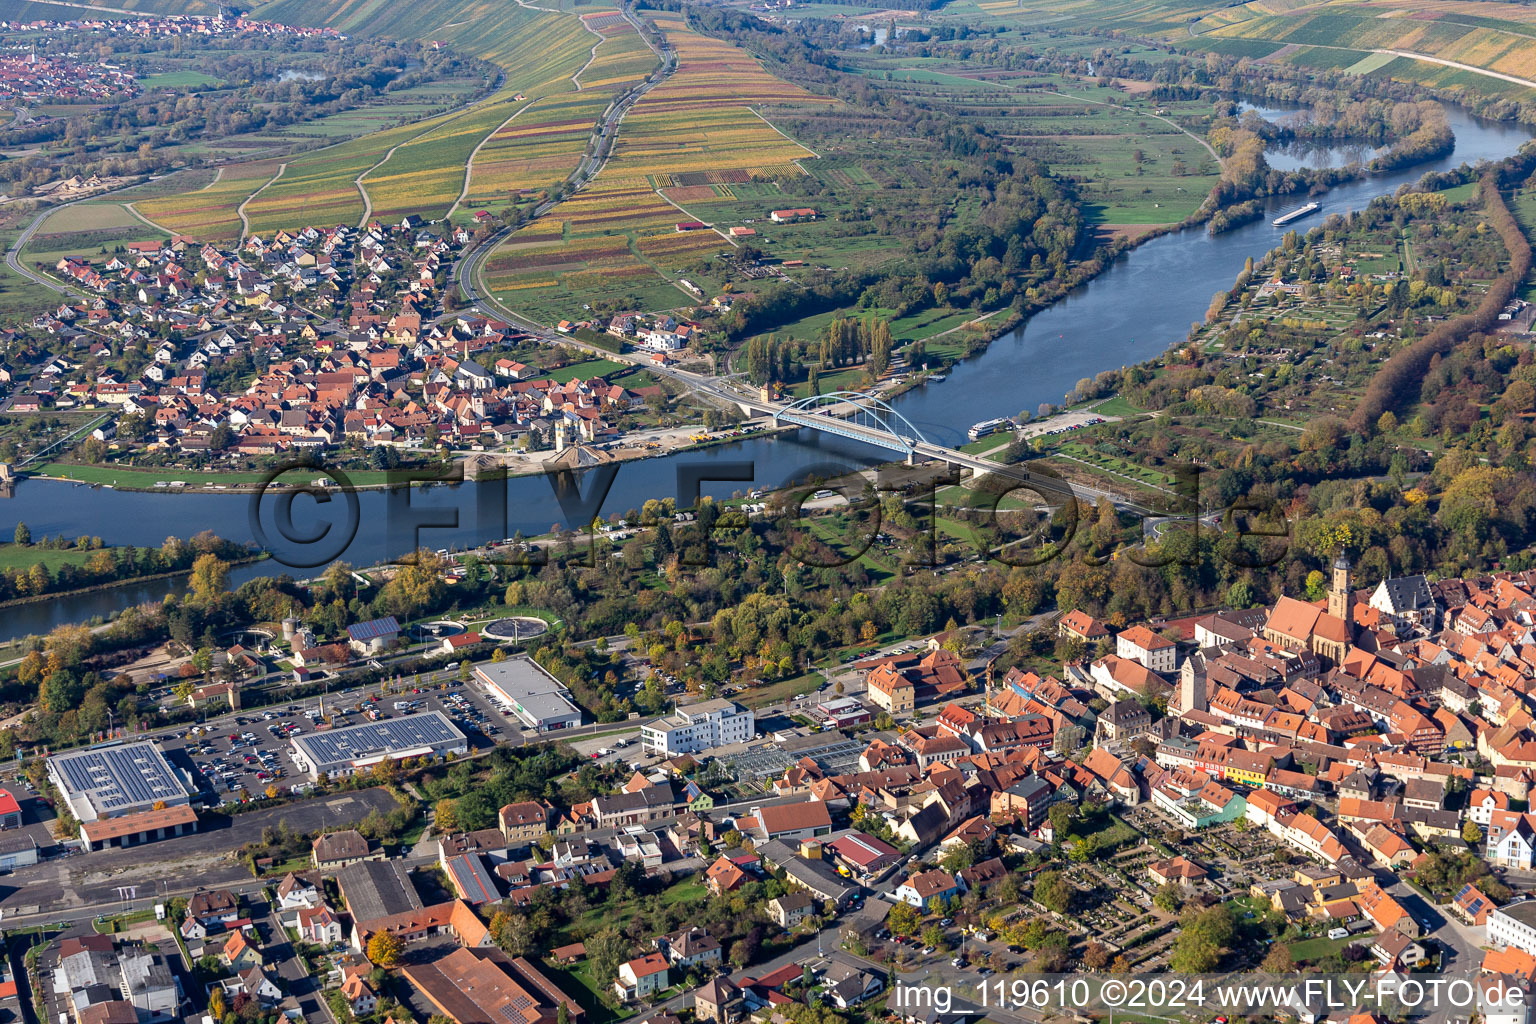
{"type": "MultiPolygon", "coordinates": [[[[381,338],[432,332],[410,315],[393,319],[378,321],[381,338]]],[[[206,379],[175,370],[167,379],[206,379]]],[[[596,774],[581,761],[590,794],[519,792],[498,809],[499,827],[427,840],[438,844],[435,869],[449,892],[433,884],[438,895],[422,898],[404,881],[398,851],[343,829],[315,838],[313,875],[273,877],[281,920],[306,941],[350,946],[359,970],[343,967],[333,987],[352,1006],[378,996],[366,955],[372,936],[389,933],[415,947],[406,979],[432,1004],[462,1009],[481,998],[475,993],[516,986],[530,999],[527,1024],[551,1024],[544,1018],[559,1013],[559,987],[539,981],[544,967],[533,958],[498,950],[493,930],[551,901],[645,900],[687,872],[682,884],[708,894],[700,901],[742,901],[745,924],[773,923],[782,932],[777,950],[836,923],[843,960],[800,953],[813,975],[836,981],[842,1004],[854,1004],[876,995],[865,975],[885,976],[885,943],[894,929],[911,938],[914,920],[923,943],[929,929],[958,940],[951,915],[972,910],[986,930],[1012,936],[1035,918],[1049,927],[1060,912],[1020,915],[1020,887],[1032,886],[1029,898],[1043,904],[1051,897],[1041,884],[1054,884],[1044,872],[1086,881],[1097,864],[1117,860],[1097,857],[1100,840],[1089,837],[1114,832],[1117,849],[1135,854],[1121,863],[1137,864],[1117,874],[1117,884],[1160,918],[1160,938],[1149,941],[1163,947],[1180,943],[1180,918],[1164,904],[1210,909],[1241,875],[1236,887],[1286,929],[1353,940],[1375,963],[1416,967],[1436,943],[1459,936],[1436,938],[1450,926],[1412,912],[1398,881],[1416,875],[1433,886],[1435,870],[1445,870],[1439,864],[1475,861],[1491,874],[1448,890],[1441,884],[1442,903],[1504,946],[1487,963],[1519,967],[1521,956],[1536,956],[1536,912],[1508,903],[1498,872],[1536,870],[1536,814],[1527,811],[1536,772],[1527,703],[1536,680],[1536,573],[1355,591],[1349,560],[1339,557],[1335,570],[1315,602],[1129,625],[1074,617],[1071,628],[1041,629],[1057,645],[1057,665],[1035,657],[1032,668],[1001,668],[1000,651],[1011,654],[977,643],[974,628],[888,646],[831,669],[839,682],[862,677],[866,686],[845,689],[836,714],[806,722],[717,697],[685,703],[659,725],[613,723],[641,740],[633,752],[622,752],[628,740],[596,748],[614,743],[604,734],[571,742],[591,748],[567,757],[637,760],[596,774]],[[1373,594],[1384,600],[1370,603],[1373,594]],[[1470,609],[1491,628],[1467,625],[1470,609]],[[1109,657],[1144,672],[1146,692],[1104,682],[1092,666],[1109,657]],[[710,715],[725,715],[731,728],[702,728],[710,715]],[[690,722],[687,743],[651,735],[690,722]],[[754,797],[720,809],[716,800],[733,791],[754,797]],[[1255,874],[1253,864],[1266,870],[1255,874]],[[330,875],[336,903],[324,884],[330,875]],[[430,940],[441,958],[425,963],[430,940]]],[[[347,629],[362,652],[381,657],[398,633],[389,617],[347,629]]],[[[306,662],[312,646],[300,648],[306,662]]],[[[508,755],[536,749],[527,743],[508,755]]],[[[1086,929],[1115,927],[1091,912],[1077,917],[1086,929]]],[[[988,964],[1006,961],[1006,947],[1018,943],[985,938],[983,927],[966,932],[965,956],[988,949],[988,964]]],[[[195,894],[180,929],[186,941],[218,950],[229,986],[269,992],[263,978],[276,966],[267,958],[280,953],[241,917],[238,897],[195,894]]],[[[759,955],[751,943],[737,946],[745,932],[703,909],[648,932],[628,929],[599,940],[613,947],[598,983],[616,1003],[682,996],[696,1016],[740,1019],[776,1006],[780,987],[803,978],[799,960],[773,969],[751,963],[759,955]],[[742,958],[750,963],[736,963],[742,958]]],[[[579,933],[559,938],[558,963],[587,955],[579,933]]]]}

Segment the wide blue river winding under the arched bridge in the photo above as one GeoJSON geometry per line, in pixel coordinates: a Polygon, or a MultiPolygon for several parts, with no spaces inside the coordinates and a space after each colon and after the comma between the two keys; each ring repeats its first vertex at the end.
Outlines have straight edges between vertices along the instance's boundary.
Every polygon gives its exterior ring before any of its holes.
{"type": "MultiPolygon", "coordinates": [[[[1266,117],[1286,114],[1261,112],[1266,117]]],[[[1502,160],[1531,137],[1516,124],[1481,121],[1458,107],[1447,107],[1447,114],[1456,132],[1456,149],[1448,157],[1341,184],[1319,198],[1321,215],[1362,209],[1372,198],[1415,181],[1427,170],[1502,160]]],[[[1313,154],[1313,158],[1326,164],[1336,161],[1338,154],[1313,154]]],[[[974,422],[1032,413],[1041,402],[1060,402],[1083,378],[1157,356],[1184,338],[1192,321],[1204,316],[1210,296],[1218,289],[1230,287],[1249,256],[1258,258],[1275,246],[1281,230],[1270,226],[1270,218],[1304,201],[1306,197],[1276,198],[1270,201],[1264,220],[1223,235],[1212,236],[1200,226],[1138,246],[1100,276],[994,341],[985,353],[952,367],[943,384],[914,388],[894,405],[929,441],[958,444],[974,422]]],[[[1299,221],[1296,227],[1306,230],[1313,223],[1316,218],[1299,221]]],[[[702,485],[703,493],[723,497],[753,487],[773,488],[813,471],[829,476],[885,461],[889,461],[889,453],[882,450],[802,430],[622,464],[599,513],[622,514],[639,508],[648,497],[679,496],[679,474],[687,467],[702,467],[703,476],[708,476],[711,467],[723,474],[739,470],[739,464],[751,464],[751,482],[707,481],[702,485]]],[[[598,477],[598,473],[587,473],[582,487],[591,488],[598,477]]],[[[478,505],[484,502],[478,502],[476,487],[485,485],[418,488],[410,494],[413,508],[458,510],[459,525],[421,531],[422,545],[472,547],[516,530],[544,533],[556,522],[587,522],[590,513],[588,508],[581,514],[564,510],[545,477],[522,477],[505,484],[505,516],[498,511],[487,519],[479,513],[478,505]]],[[[590,494],[590,490],[584,493],[590,494]]],[[[402,530],[398,504],[392,516],[390,500],[381,491],[358,496],[358,531],[344,554],[353,565],[372,565],[415,545],[410,533],[402,530]]],[[[14,497],[0,504],[0,522],[5,524],[0,536],[9,536],[15,522],[23,520],[34,537],[89,534],[101,536],[109,543],[160,545],[167,536],[187,537],[212,530],[232,540],[257,542],[258,536],[276,536],[269,516],[270,504],[263,505],[261,522],[266,527],[258,534],[252,528],[249,496],[114,491],[61,481],[23,481],[15,487],[14,497]]],[[[492,502],[493,510],[496,505],[499,502],[492,502]]],[[[293,533],[319,531],[341,510],[344,502],[339,499],[329,505],[295,500],[293,533]]],[[[281,543],[269,545],[269,550],[289,551],[281,543]]],[[[241,567],[233,580],[238,583],[284,571],[295,576],[313,573],[269,559],[241,567]]],[[[0,622],[0,637],[46,633],[61,622],[111,614],[137,602],[178,593],[178,583],[155,582],[9,608],[0,622]]]]}

